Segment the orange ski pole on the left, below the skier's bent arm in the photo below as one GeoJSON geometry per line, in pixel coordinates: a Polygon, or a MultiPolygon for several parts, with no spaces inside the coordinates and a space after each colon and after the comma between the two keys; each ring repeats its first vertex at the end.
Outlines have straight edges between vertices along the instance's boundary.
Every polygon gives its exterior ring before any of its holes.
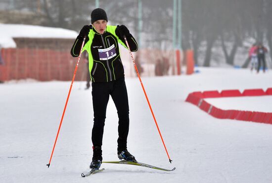
{"type": "Polygon", "coordinates": [[[81,45],[81,50],[80,50],[80,54],[79,54],[79,59],[78,59],[78,62],[77,62],[77,64],[76,64],[76,68],[75,68],[75,71],[74,71],[73,79],[72,79],[71,86],[70,86],[70,89],[69,89],[69,93],[68,93],[68,96],[67,96],[67,99],[66,99],[65,107],[64,107],[64,110],[63,110],[63,113],[62,113],[62,116],[61,116],[61,121],[60,121],[60,123],[59,123],[58,131],[57,131],[57,136],[56,136],[55,143],[54,143],[54,146],[53,146],[53,149],[52,149],[51,157],[50,157],[49,163],[46,165],[46,166],[48,166],[48,168],[49,168],[50,163],[51,163],[51,159],[52,159],[52,156],[53,156],[53,153],[54,153],[54,149],[55,149],[55,146],[56,146],[56,142],[57,142],[59,130],[60,130],[60,127],[61,127],[61,124],[62,124],[62,120],[63,120],[64,114],[65,114],[65,111],[66,111],[66,107],[67,107],[67,104],[68,104],[68,100],[69,100],[69,97],[70,97],[70,93],[71,93],[71,90],[72,90],[72,87],[73,87],[73,83],[74,83],[74,80],[75,80],[75,77],[76,77],[76,73],[77,73],[78,65],[79,65],[79,61],[80,61],[80,56],[81,56],[81,53],[82,53],[82,49],[83,49],[85,40],[86,40],[86,37],[84,37],[83,42],[82,42],[82,45],[81,45]]]}

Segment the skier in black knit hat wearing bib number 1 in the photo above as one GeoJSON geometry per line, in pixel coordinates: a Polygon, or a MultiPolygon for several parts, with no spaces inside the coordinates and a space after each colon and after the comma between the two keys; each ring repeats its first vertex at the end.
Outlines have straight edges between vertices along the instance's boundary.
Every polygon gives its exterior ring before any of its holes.
{"type": "Polygon", "coordinates": [[[78,57],[83,39],[86,36],[83,51],[89,54],[89,71],[91,75],[93,127],[91,133],[93,156],[90,168],[98,170],[102,163],[102,137],[106,118],[106,108],[111,95],[118,113],[118,147],[119,159],[136,162],[127,150],[129,133],[129,103],[118,43],[127,48],[124,36],[131,51],[138,49],[136,40],[125,25],[107,25],[106,12],[96,8],[91,12],[91,25],[85,25],[76,38],[71,55],[78,57]]]}

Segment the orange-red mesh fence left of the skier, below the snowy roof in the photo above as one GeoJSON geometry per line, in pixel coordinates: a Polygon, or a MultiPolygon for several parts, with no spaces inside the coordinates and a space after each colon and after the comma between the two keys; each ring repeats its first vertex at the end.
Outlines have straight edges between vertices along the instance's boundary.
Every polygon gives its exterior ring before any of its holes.
{"type": "MultiPolygon", "coordinates": [[[[0,65],[0,81],[26,78],[40,81],[71,80],[77,61],[70,55],[70,51],[48,49],[8,48],[1,49],[1,55],[4,65],[0,65]]],[[[82,61],[76,80],[82,78],[86,67],[82,61]]]]}

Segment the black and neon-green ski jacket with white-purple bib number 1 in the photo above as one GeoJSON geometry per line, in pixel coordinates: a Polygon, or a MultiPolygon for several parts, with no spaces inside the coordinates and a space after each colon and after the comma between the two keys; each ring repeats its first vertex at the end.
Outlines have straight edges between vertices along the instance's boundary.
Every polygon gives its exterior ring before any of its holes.
{"type": "MultiPolygon", "coordinates": [[[[92,28],[86,38],[83,51],[89,54],[89,71],[92,82],[110,82],[124,77],[124,67],[120,57],[119,45],[127,48],[125,39],[119,38],[115,31],[117,26],[107,25],[103,34],[92,28]]],[[[127,36],[132,52],[136,52],[138,45],[134,37],[127,36]]],[[[83,37],[78,36],[71,49],[71,55],[78,57],[82,46],[83,37]]]]}

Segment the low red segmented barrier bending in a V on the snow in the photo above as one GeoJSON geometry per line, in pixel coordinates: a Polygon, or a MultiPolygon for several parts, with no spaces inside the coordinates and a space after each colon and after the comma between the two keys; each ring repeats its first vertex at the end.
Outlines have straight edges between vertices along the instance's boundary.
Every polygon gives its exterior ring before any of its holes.
{"type": "Polygon", "coordinates": [[[240,93],[239,90],[223,90],[219,93],[217,90],[192,92],[187,98],[186,102],[196,105],[201,110],[219,119],[241,120],[248,122],[264,122],[272,124],[272,113],[263,113],[255,111],[239,111],[239,110],[222,110],[208,102],[205,98],[219,98],[219,97],[242,97],[242,96],[264,96],[272,95],[272,88],[268,88],[265,92],[263,89],[249,89],[240,93]]]}

